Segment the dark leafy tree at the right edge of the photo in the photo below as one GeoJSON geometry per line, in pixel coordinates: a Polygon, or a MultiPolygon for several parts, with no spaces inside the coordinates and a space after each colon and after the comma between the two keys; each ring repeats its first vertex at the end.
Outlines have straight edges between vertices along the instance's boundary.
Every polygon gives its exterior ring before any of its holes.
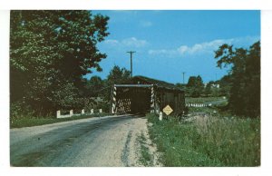
{"type": "Polygon", "coordinates": [[[215,52],[218,66],[230,65],[229,109],[243,116],[260,116],[260,42],[249,49],[223,44],[215,52]]]}

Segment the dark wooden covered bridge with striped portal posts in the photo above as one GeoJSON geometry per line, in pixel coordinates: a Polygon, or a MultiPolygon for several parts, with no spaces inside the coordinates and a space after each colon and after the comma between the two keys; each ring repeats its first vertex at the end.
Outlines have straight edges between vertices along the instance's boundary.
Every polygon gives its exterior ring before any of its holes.
{"type": "Polygon", "coordinates": [[[112,85],[112,113],[159,113],[166,105],[174,114],[184,112],[184,91],[173,83],[134,76],[129,83],[112,85]]]}

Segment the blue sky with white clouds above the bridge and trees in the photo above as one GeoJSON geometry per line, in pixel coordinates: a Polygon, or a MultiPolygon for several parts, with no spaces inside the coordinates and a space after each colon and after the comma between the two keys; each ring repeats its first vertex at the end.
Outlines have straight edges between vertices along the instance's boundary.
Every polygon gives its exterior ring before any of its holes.
{"type": "Polygon", "coordinates": [[[216,67],[214,51],[220,44],[248,47],[260,39],[260,11],[92,11],[108,15],[109,32],[98,45],[108,57],[100,63],[105,79],[114,64],[169,83],[185,83],[200,75],[204,83],[228,73],[216,67]]]}

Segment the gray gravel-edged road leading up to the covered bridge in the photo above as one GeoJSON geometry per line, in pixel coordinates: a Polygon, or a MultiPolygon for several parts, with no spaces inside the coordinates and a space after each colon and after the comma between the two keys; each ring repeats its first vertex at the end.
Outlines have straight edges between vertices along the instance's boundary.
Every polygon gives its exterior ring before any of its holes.
{"type": "Polygon", "coordinates": [[[109,116],[10,130],[11,166],[138,166],[140,116],[109,116]]]}

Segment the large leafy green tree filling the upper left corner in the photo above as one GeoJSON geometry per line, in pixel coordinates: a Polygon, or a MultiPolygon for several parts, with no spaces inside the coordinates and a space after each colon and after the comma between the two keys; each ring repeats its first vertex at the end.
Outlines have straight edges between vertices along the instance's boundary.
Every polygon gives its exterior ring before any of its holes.
{"type": "Polygon", "coordinates": [[[109,34],[108,20],[90,11],[11,11],[11,103],[46,113],[79,96],[83,75],[102,71],[106,54],[96,45],[109,34]]]}

